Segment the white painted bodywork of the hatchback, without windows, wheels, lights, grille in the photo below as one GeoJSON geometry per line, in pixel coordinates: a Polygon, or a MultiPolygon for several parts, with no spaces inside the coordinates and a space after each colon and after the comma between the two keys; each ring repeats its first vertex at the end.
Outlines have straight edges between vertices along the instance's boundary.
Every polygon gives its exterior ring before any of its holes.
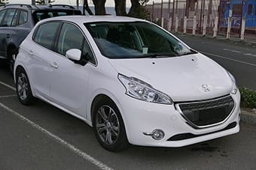
{"type": "MultiPolygon", "coordinates": [[[[35,97],[83,119],[92,126],[93,100],[97,95],[105,94],[120,110],[127,139],[134,145],[181,147],[239,132],[239,91],[236,94],[230,93],[233,83],[226,70],[215,61],[200,53],[174,58],[108,59],[99,52],[83,23],[91,19],[95,21],[105,21],[105,19],[133,21],[134,19],[110,16],[70,16],[62,19],[76,22],[84,31],[96,56],[96,65],[87,63],[81,66],[56,52],[44,49],[32,40],[33,29],[20,46],[15,69],[21,66],[26,70],[35,97]],[[30,50],[33,55],[29,54],[30,50]],[[174,104],[148,103],[126,95],[126,89],[117,79],[118,73],[148,82],[155,89],[172,97],[174,102],[209,100],[230,94],[235,102],[235,109],[223,124],[194,129],[186,123],[174,104]],[[209,85],[211,91],[203,91],[201,88],[203,84],[209,85]],[[233,122],[236,122],[236,127],[221,131],[233,122]],[[165,133],[165,137],[160,141],[143,134],[155,129],[161,129],[165,133]],[[175,142],[167,141],[169,137],[179,133],[207,135],[175,142]]],[[[44,22],[47,20],[49,19],[45,19],[44,22]]]]}

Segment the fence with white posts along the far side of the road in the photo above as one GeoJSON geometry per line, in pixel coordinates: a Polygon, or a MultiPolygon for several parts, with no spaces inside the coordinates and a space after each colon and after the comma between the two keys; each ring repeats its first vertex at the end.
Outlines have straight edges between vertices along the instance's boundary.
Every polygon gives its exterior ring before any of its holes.
{"type": "Polygon", "coordinates": [[[169,31],[256,41],[256,0],[153,1],[145,8],[169,31]]]}

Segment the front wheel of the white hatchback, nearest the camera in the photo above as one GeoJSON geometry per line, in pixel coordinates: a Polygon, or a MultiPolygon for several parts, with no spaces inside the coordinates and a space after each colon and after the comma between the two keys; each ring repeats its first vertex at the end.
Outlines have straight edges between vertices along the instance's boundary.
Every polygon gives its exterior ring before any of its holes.
{"type": "Polygon", "coordinates": [[[108,97],[95,104],[93,130],[100,145],[108,151],[123,151],[130,147],[119,109],[108,97]]]}

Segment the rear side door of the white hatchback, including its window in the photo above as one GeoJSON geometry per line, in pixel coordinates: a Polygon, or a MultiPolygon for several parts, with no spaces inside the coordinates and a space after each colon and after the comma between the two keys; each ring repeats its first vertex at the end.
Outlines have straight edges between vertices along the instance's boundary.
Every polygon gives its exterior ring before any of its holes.
{"type": "MultiPolygon", "coordinates": [[[[29,74],[35,92],[38,96],[49,99],[50,83],[52,82],[52,58],[56,53],[52,51],[60,22],[47,22],[39,25],[33,35],[34,43],[28,42],[26,52],[29,55],[29,74]]],[[[56,78],[58,79],[58,78],[56,78]]]]}

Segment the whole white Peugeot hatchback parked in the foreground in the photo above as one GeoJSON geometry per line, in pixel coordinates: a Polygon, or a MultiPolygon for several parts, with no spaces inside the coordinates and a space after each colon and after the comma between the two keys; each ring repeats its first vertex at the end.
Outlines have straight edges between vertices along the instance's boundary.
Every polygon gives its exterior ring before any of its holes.
{"type": "Polygon", "coordinates": [[[81,118],[108,151],[182,147],[239,132],[233,76],[154,23],[60,16],[35,25],[14,67],[17,96],[81,118]]]}

